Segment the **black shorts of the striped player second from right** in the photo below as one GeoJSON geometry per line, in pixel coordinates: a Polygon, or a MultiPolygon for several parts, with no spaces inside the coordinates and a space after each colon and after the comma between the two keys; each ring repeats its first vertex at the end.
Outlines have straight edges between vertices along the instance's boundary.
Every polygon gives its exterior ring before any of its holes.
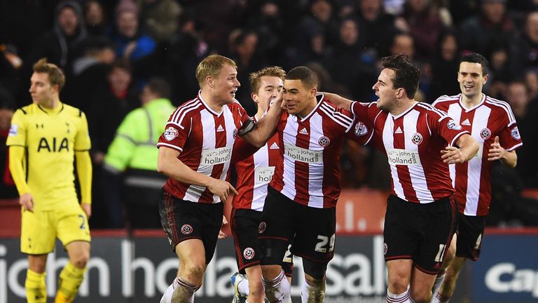
{"type": "Polygon", "coordinates": [[[437,274],[457,222],[453,196],[420,204],[390,195],[385,215],[385,261],[411,259],[426,274],[437,274]]]}

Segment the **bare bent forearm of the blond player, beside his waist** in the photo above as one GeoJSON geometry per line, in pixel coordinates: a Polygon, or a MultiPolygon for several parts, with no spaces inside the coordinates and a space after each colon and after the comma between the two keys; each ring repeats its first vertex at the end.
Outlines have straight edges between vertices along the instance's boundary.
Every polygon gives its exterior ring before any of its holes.
{"type": "Polygon", "coordinates": [[[157,171],[181,183],[207,187],[209,191],[219,196],[223,202],[226,202],[230,193],[237,194],[232,184],[225,180],[215,179],[208,175],[195,172],[179,160],[177,158],[178,156],[179,152],[175,149],[159,147],[157,171]]]}

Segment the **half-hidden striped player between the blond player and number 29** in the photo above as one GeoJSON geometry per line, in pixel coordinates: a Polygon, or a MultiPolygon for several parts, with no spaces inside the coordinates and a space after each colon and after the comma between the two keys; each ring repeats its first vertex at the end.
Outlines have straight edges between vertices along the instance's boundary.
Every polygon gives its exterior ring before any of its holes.
{"type": "MultiPolygon", "coordinates": [[[[270,102],[282,94],[286,72],[280,67],[266,67],[250,75],[251,97],[258,107],[254,121],[259,121],[270,102]]],[[[278,135],[275,134],[260,149],[238,139],[235,142],[232,164],[235,165],[237,183],[230,215],[230,227],[235,242],[238,274],[232,278],[235,289],[233,302],[261,303],[265,297],[261,278],[258,245],[258,224],[267,196],[268,184],[280,157],[278,135]],[[240,160],[236,163],[235,160],[240,160]],[[243,274],[247,275],[244,279],[243,274]]],[[[288,256],[289,258],[289,256],[288,256]]],[[[283,264],[291,278],[291,262],[283,264]]]]}

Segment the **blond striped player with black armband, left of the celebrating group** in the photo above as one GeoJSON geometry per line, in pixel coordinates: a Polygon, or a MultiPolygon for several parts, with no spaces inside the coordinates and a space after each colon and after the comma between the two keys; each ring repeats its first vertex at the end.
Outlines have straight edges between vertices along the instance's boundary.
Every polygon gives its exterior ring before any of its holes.
{"type": "Polygon", "coordinates": [[[158,171],[169,177],[159,210],[172,250],[179,257],[177,278],[161,302],[193,302],[211,261],[223,218],[223,201],[237,194],[228,183],[235,138],[262,147],[282,113],[275,100],[254,123],[235,100],[237,65],[209,55],[196,68],[200,92],[170,116],[157,146],[158,171]]]}

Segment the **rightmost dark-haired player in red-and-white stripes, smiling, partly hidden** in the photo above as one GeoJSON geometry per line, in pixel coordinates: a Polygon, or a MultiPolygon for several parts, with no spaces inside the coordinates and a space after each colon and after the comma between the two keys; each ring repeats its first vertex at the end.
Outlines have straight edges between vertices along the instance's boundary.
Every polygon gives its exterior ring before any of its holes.
{"type": "Polygon", "coordinates": [[[441,271],[436,279],[432,302],[448,302],[465,260],[476,261],[480,256],[485,218],[491,203],[492,161],[499,160],[504,166],[516,167],[516,148],[523,145],[510,105],[482,93],[488,81],[488,66],[482,55],[464,55],[457,72],[462,93],[443,95],[433,104],[468,130],[480,148],[469,162],[450,166],[460,213],[457,234],[443,262],[443,267],[448,268],[446,274],[441,271]]]}

